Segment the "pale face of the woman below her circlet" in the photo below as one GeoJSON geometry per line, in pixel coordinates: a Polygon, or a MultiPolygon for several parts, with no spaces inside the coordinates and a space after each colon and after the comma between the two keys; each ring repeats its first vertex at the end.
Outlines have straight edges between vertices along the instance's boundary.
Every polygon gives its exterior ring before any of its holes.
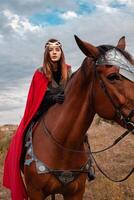
{"type": "Polygon", "coordinates": [[[59,46],[49,46],[49,55],[50,55],[50,59],[53,62],[57,62],[60,60],[61,57],[61,48],[59,46]]]}

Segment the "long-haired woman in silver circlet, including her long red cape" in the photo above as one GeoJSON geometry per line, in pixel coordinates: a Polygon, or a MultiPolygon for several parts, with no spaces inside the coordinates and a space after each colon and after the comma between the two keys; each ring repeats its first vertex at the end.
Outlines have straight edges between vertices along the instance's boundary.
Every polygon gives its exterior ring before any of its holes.
{"type": "Polygon", "coordinates": [[[11,190],[12,200],[27,199],[20,169],[25,133],[50,106],[63,103],[64,88],[70,74],[71,68],[65,64],[61,43],[50,39],[45,45],[43,67],[34,73],[24,116],[5,159],[3,185],[11,190]]]}

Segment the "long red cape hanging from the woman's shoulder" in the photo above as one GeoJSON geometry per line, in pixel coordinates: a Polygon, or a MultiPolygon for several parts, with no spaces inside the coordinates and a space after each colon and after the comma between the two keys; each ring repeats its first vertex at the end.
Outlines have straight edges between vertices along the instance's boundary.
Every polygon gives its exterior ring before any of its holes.
{"type": "Polygon", "coordinates": [[[37,112],[48,85],[45,74],[37,70],[28,93],[24,116],[11,141],[4,165],[3,185],[11,190],[12,200],[27,200],[20,170],[20,158],[25,130],[37,112]]]}

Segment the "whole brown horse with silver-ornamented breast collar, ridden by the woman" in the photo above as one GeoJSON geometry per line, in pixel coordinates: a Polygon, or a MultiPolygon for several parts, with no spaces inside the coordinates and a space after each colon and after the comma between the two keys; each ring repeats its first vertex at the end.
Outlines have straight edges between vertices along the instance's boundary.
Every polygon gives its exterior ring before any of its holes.
{"type": "Polygon", "coordinates": [[[122,76],[116,65],[101,61],[102,55],[114,49],[120,52],[117,60],[123,58],[132,65],[130,55],[124,51],[125,38],[116,47],[95,47],[77,36],[75,39],[87,57],[68,82],[64,103],[51,107],[31,134],[24,167],[31,200],[43,200],[56,193],[65,200],[82,200],[89,167],[84,137],[95,113],[134,128],[134,82],[122,76]]]}

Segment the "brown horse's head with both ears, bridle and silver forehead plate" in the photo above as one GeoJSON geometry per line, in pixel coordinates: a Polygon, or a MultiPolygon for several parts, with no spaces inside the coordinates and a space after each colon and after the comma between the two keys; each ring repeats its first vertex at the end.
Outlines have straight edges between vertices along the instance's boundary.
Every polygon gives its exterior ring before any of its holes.
{"type": "Polygon", "coordinates": [[[134,65],[132,57],[125,51],[125,37],[118,41],[117,46],[98,47],[77,36],[75,39],[81,51],[92,62],[92,106],[95,112],[105,119],[133,129],[134,65]]]}

